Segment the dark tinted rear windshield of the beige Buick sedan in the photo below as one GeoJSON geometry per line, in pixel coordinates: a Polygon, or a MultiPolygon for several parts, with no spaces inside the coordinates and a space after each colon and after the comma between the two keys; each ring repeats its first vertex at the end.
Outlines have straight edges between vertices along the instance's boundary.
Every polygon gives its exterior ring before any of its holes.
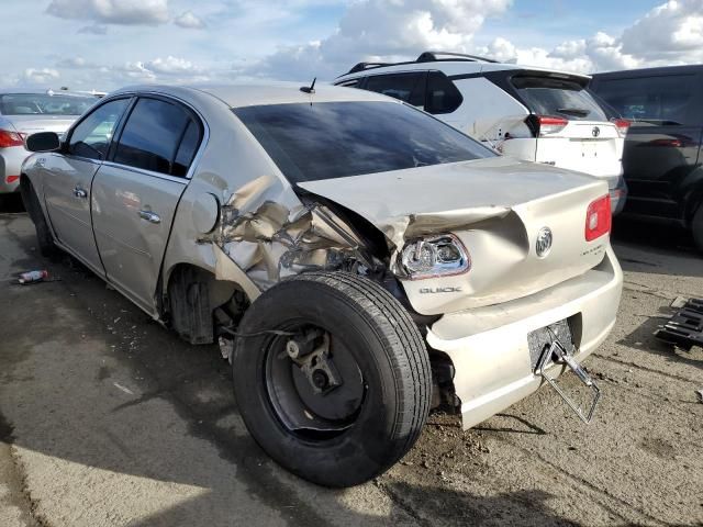
{"type": "Polygon", "coordinates": [[[233,111],[291,182],[494,156],[449,125],[397,102],[271,104],[233,111]]]}

